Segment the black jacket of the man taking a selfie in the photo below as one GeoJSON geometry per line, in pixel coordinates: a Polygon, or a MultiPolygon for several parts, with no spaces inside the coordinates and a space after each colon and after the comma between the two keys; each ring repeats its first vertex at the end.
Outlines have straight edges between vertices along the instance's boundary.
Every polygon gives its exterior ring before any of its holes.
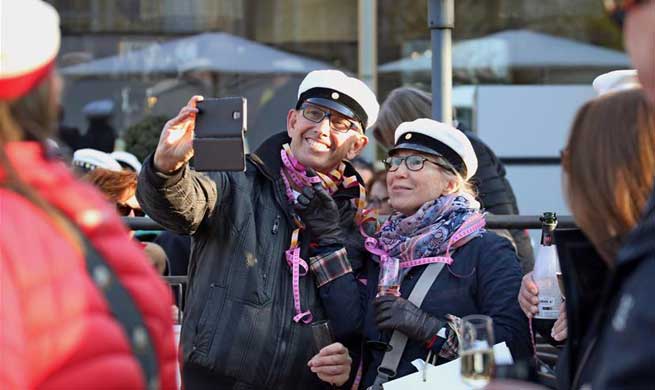
{"type": "MultiPolygon", "coordinates": [[[[294,225],[280,176],[280,150],[287,142],[284,133],[269,138],[249,155],[245,173],[205,175],[185,166],[164,175],[155,171],[151,156],[139,176],[137,197],[148,215],[193,237],[181,348],[183,378],[197,387],[324,386],[307,367],[316,353],[311,329],[293,322],[292,277],[284,252],[294,225]]],[[[346,175],[353,174],[348,165],[346,175]]],[[[333,195],[340,210],[356,196],[357,188],[333,195]]],[[[352,218],[344,223],[348,258],[358,273],[363,241],[352,218]]],[[[306,261],[308,241],[300,239],[306,261]]],[[[329,317],[336,340],[351,348],[361,325],[338,317],[347,315],[340,306],[343,295],[359,294],[356,283],[346,283],[354,278],[348,273],[320,291],[311,273],[300,278],[302,309],[311,310],[314,320],[329,317]]]]}

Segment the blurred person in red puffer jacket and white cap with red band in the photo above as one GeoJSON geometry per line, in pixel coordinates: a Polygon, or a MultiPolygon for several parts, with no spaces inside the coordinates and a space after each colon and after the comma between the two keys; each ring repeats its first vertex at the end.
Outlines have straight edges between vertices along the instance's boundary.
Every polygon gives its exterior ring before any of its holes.
{"type": "Polygon", "coordinates": [[[44,147],[58,14],[40,0],[0,9],[0,388],[173,389],[166,285],[113,207],[44,147]]]}

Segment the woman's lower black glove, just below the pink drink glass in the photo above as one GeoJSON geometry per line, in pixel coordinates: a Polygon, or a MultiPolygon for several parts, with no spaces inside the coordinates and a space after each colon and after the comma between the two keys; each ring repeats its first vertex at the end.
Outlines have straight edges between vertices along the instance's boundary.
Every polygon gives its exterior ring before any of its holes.
{"type": "Polygon", "coordinates": [[[399,330],[413,340],[428,341],[445,325],[404,298],[384,295],[373,304],[379,329],[399,330]]]}

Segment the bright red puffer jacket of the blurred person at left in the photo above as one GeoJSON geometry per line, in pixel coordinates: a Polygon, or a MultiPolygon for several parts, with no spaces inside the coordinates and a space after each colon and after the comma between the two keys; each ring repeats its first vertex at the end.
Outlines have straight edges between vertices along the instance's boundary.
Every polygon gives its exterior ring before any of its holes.
{"type": "MultiPolygon", "coordinates": [[[[22,180],[63,211],[134,298],[159,362],[175,387],[170,291],[131,242],[114,208],[37,143],[5,153],[22,180]]],[[[124,331],[86,270],[80,249],[42,209],[6,188],[0,167],[0,389],[142,389],[124,331]]]]}

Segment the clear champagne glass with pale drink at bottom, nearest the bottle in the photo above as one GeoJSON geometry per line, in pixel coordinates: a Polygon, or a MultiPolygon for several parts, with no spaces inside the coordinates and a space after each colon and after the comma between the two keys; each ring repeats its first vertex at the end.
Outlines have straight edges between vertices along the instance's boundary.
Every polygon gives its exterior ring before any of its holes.
{"type": "Polygon", "coordinates": [[[479,389],[491,380],[495,368],[493,320],[485,315],[462,318],[459,355],[464,383],[479,389]]]}

